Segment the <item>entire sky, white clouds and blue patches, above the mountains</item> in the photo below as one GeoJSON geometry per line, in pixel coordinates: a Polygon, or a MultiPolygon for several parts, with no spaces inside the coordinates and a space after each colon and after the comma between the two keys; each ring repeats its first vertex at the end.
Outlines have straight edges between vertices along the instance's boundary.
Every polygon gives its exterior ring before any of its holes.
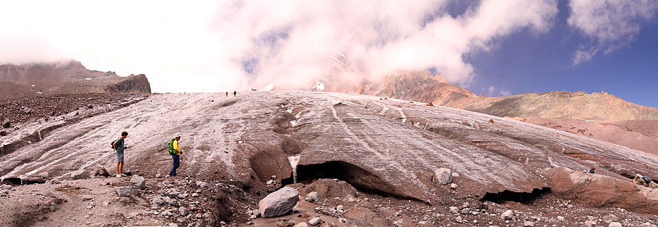
{"type": "Polygon", "coordinates": [[[361,81],[430,70],[485,96],[604,91],[658,107],[654,0],[0,5],[0,64],[76,59],[144,73],[154,92],[310,88],[329,73],[361,81]]]}

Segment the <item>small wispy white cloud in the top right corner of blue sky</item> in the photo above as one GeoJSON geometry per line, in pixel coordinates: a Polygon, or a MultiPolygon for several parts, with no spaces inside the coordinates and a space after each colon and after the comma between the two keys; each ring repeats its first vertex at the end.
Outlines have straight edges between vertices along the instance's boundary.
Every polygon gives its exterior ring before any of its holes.
{"type": "Polygon", "coordinates": [[[639,34],[640,21],[656,14],[658,1],[570,1],[570,8],[568,24],[595,42],[574,53],[573,64],[578,65],[589,61],[600,51],[611,53],[633,42],[639,34]]]}

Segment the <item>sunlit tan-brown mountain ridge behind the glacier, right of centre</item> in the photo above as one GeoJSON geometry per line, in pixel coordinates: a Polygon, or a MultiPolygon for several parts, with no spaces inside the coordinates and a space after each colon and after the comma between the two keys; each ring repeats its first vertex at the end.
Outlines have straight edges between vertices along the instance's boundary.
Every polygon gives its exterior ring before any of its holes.
{"type": "MultiPolygon", "coordinates": [[[[326,83],[327,84],[327,83],[326,83]]],[[[328,83],[331,84],[331,83],[328,83]]],[[[429,72],[404,71],[384,81],[363,81],[357,88],[324,91],[368,94],[476,111],[493,116],[578,120],[658,120],[658,109],[644,107],[605,92],[548,92],[502,97],[477,96],[429,72]]]]}

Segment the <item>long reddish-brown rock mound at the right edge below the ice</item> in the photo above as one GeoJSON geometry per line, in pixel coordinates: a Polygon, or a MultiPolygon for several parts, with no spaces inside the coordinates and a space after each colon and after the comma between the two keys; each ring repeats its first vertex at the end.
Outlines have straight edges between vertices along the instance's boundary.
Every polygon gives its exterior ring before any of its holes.
{"type": "Polygon", "coordinates": [[[569,168],[548,171],[552,193],[594,207],[620,207],[639,213],[658,213],[658,190],[630,180],[585,174],[569,168]]]}

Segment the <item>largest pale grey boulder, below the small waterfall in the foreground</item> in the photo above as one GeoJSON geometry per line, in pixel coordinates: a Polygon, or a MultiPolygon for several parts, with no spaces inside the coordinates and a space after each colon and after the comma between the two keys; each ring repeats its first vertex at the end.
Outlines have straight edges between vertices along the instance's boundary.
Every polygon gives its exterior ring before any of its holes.
{"type": "Polygon", "coordinates": [[[278,217],[293,211],[300,200],[300,192],[292,187],[283,187],[265,196],[258,202],[258,211],[262,217],[278,217]]]}

